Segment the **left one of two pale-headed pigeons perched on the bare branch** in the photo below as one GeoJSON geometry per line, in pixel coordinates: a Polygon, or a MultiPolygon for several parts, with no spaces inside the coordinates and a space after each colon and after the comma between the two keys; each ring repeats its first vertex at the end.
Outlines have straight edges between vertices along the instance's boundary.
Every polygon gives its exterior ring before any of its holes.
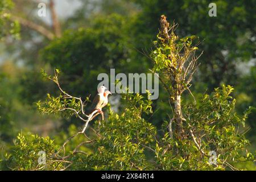
{"type": "Polygon", "coordinates": [[[98,88],[98,94],[94,97],[92,106],[91,106],[91,113],[94,110],[98,110],[99,113],[101,113],[102,105],[104,104],[105,97],[104,97],[104,91],[106,87],[105,86],[100,86],[98,88]]]}

